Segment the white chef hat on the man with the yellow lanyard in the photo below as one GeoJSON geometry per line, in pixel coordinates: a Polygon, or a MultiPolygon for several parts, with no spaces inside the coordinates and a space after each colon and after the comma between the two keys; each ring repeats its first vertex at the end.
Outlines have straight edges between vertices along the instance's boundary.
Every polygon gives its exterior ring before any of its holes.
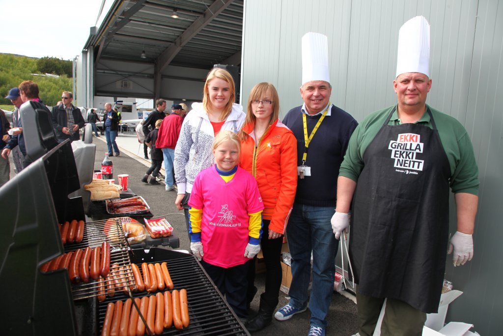
{"type": "Polygon", "coordinates": [[[328,72],[328,39],[319,33],[302,36],[302,84],[310,81],[330,83],[328,72]]]}

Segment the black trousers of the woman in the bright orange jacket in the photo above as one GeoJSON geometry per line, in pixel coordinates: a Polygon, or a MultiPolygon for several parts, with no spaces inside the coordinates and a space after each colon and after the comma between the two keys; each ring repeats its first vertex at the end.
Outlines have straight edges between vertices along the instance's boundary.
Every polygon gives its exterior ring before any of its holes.
{"type": "MultiPolygon", "coordinates": [[[[276,307],[279,300],[279,291],[281,287],[281,245],[283,244],[283,236],[276,239],[269,239],[269,223],[271,221],[265,219],[262,221],[264,226],[262,228],[262,238],[260,245],[262,254],[264,255],[264,262],[266,264],[266,290],[264,295],[261,296],[262,300],[267,302],[268,307],[276,307]]],[[[253,299],[250,295],[254,292],[255,283],[255,258],[250,262],[248,267],[248,299],[253,299]]]]}

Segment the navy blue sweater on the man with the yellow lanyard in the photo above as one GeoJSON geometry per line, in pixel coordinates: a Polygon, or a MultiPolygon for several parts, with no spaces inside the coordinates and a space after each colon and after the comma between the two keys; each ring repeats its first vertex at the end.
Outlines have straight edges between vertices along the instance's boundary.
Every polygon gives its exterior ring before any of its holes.
{"type": "MultiPolygon", "coordinates": [[[[301,107],[286,114],[283,123],[297,138],[297,165],[302,164],[304,154],[304,130],[301,107]]],[[[298,179],[295,203],[315,207],[336,207],[337,177],[348,148],[349,139],[358,122],[349,113],[332,105],[309,144],[305,165],[311,167],[311,176],[298,179]]],[[[307,115],[307,136],[318,122],[321,114],[307,115]]]]}

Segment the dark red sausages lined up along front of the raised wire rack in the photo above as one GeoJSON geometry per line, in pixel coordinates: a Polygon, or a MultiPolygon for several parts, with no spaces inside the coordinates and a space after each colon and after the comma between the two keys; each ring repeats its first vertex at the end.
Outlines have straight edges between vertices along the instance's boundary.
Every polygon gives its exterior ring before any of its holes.
{"type": "Polygon", "coordinates": [[[63,253],[56,258],[44,263],[40,270],[49,272],[66,268],[70,282],[88,283],[90,279],[99,280],[100,276],[106,278],[110,272],[110,243],[105,241],[102,246],[95,248],[86,247],[68,253],[63,253]]]}

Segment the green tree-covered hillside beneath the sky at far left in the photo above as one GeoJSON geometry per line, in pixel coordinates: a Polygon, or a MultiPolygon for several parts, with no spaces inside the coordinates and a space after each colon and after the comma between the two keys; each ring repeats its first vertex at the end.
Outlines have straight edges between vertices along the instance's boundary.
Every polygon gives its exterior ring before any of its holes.
{"type": "Polygon", "coordinates": [[[71,61],[0,53],[0,64],[0,105],[12,105],[4,97],[10,89],[25,80],[38,84],[40,99],[49,106],[56,105],[61,100],[61,92],[72,91],[71,61]],[[59,77],[46,77],[46,73],[59,77]]]}

